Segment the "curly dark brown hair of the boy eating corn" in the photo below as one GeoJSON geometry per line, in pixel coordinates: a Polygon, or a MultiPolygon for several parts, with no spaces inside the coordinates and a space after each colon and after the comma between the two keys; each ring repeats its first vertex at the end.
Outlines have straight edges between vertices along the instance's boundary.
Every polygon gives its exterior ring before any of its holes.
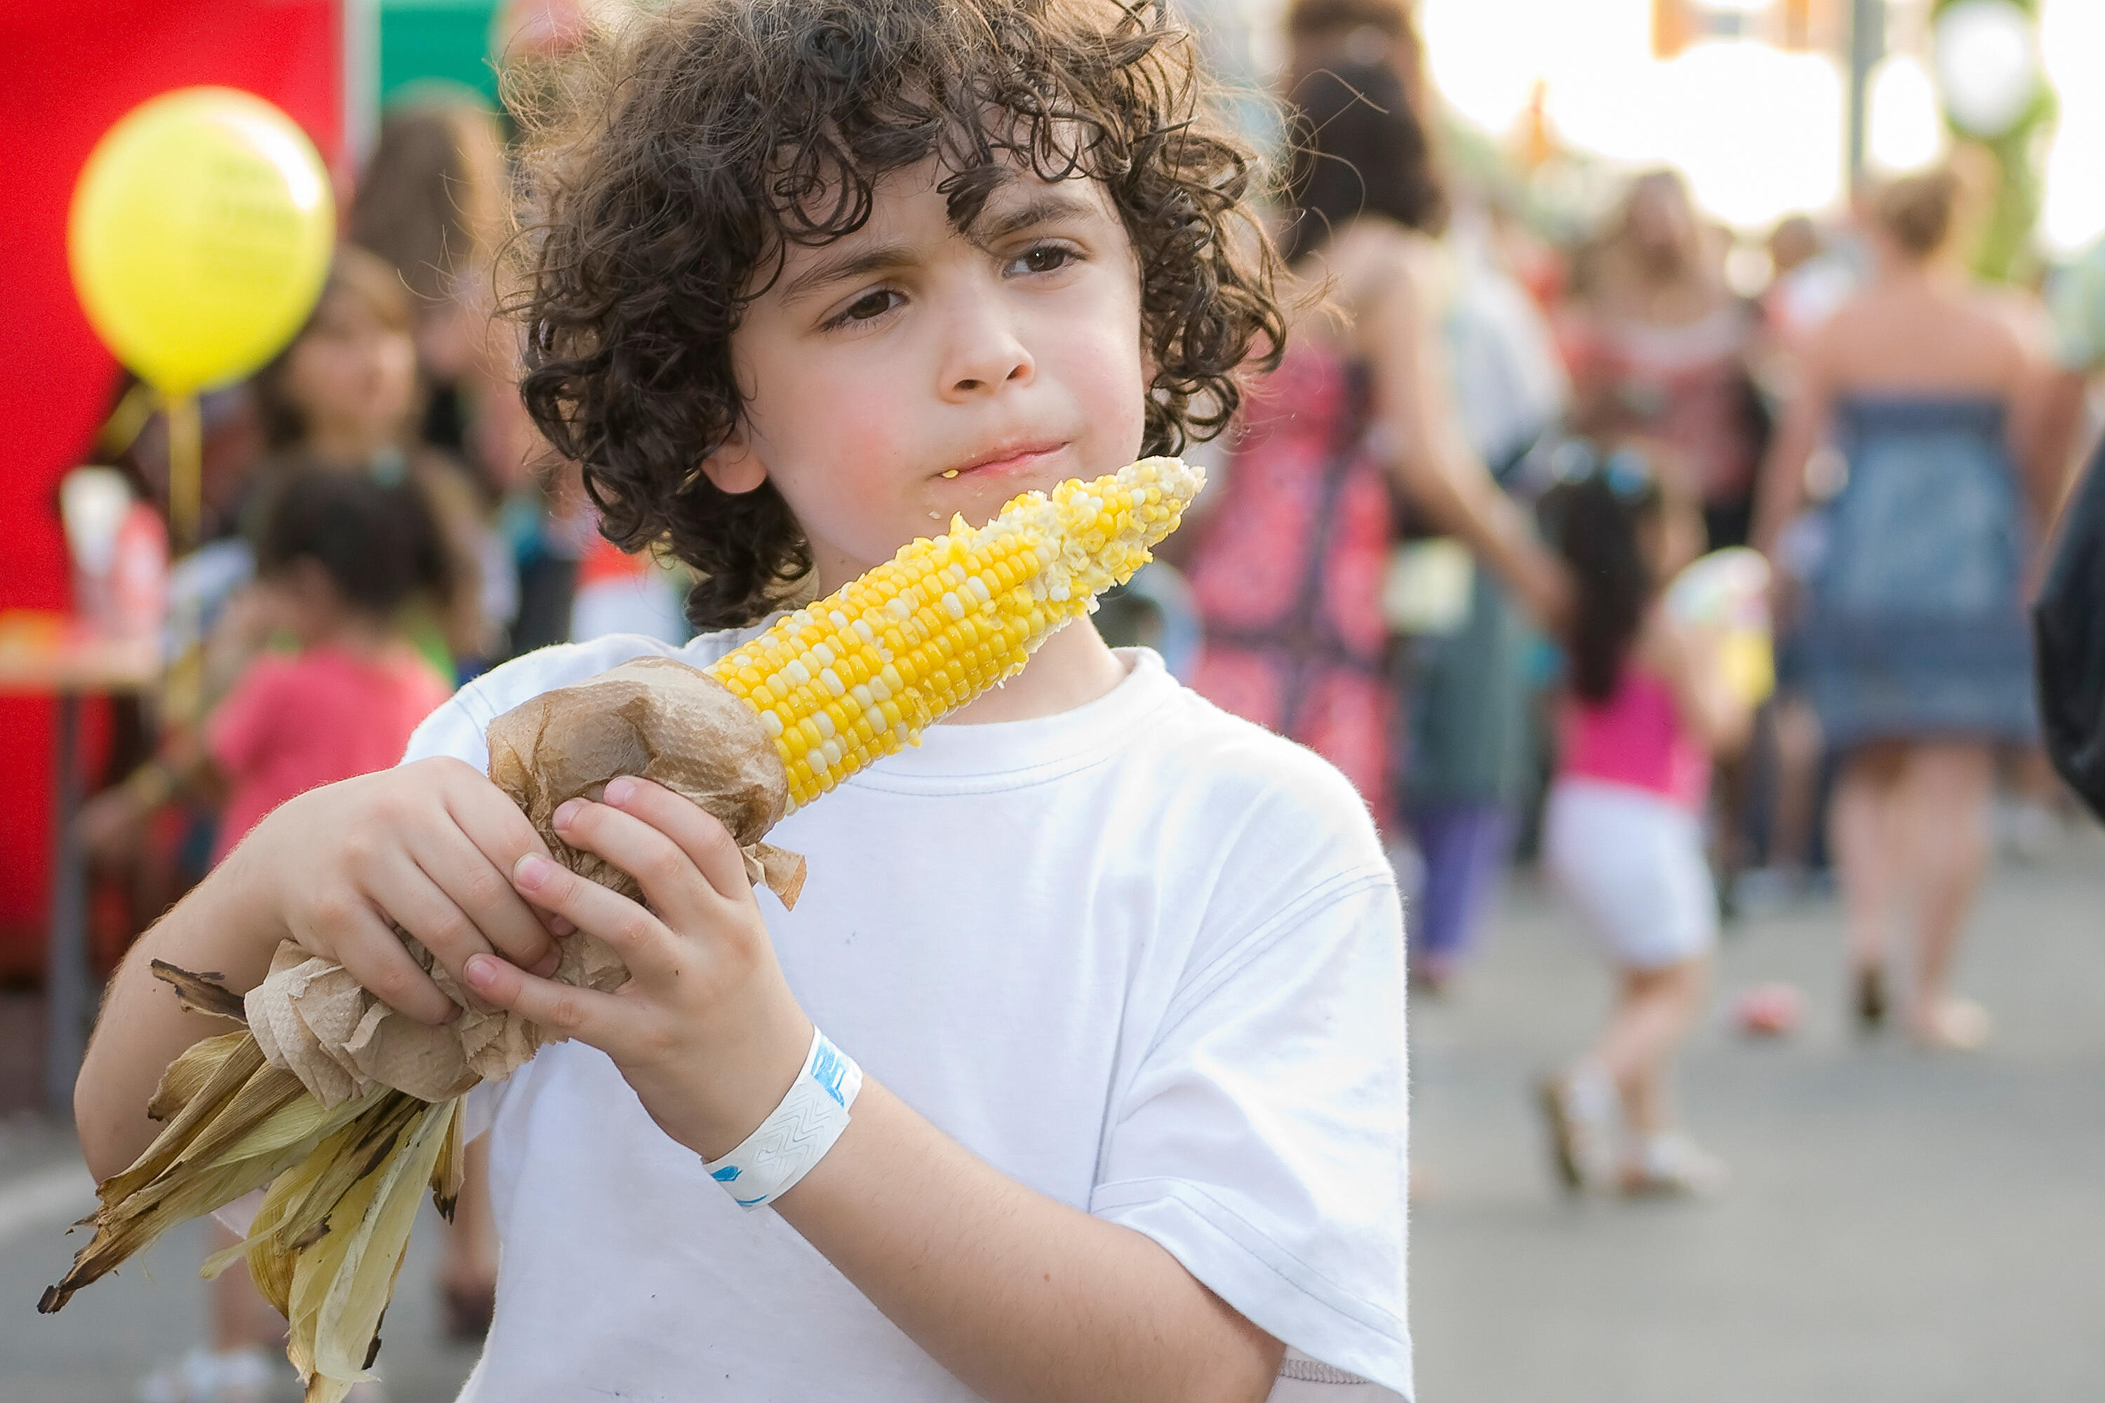
{"type": "Polygon", "coordinates": [[[606,536],[701,574],[701,627],[810,570],[773,484],[726,494],[699,467],[745,408],[730,337],[791,244],[869,221],[886,172],[939,160],[960,231],[1019,166],[1103,181],[1141,269],[1145,452],[1217,433],[1238,368],[1278,362],[1252,156],[1166,0],[690,0],[522,90],[558,116],[528,116],[520,393],[606,536]]]}

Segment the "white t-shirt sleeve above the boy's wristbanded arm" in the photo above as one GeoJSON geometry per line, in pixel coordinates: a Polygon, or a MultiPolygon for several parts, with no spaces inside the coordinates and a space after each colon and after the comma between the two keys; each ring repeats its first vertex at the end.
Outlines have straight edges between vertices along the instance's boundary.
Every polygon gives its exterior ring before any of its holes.
{"type": "Polygon", "coordinates": [[[1406,1142],[1402,911],[1387,867],[1360,862],[1185,982],[1114,1109],[1090,1212],[1299,1355],[1408,1399],[1406,1142]]]}

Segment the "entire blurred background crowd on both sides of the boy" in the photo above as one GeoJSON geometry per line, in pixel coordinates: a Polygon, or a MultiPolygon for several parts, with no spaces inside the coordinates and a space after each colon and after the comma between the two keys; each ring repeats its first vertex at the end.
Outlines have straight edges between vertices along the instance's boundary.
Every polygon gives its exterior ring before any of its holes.
{"type": "MultiPolygon", "coordinates": [[[[1301,313],[1200,450],[1208,501],[1101,623],[1360,787],[1421,991],[1457,982],[1503,873],[1539,856],[1617,976],[1598,1041],[1541,1087],[1556,1172],[1711,1191],[1724,1167],[1665,1083],[1735,909],[1833,883],[1865,1029],[1989,1035],[1951,955],[1991,814],[2023,848],[2063,806],[2023,602],[2088,433],[2105,259],[2046,292],[1970,282],[1987,196],[1964,160],[1766,248],[1735,252],[1671,170],[1551,240],[1455,177],[1400,0],[1297,0],[1286,25],[1274,233],[1301,313]],[[1772,688],[1676,612],[1669,585],[1718,551],[1766,562],[1772,688]]],[[[474,673],[686,637],[678,566],[598,534],[520,406],[507,219],[501,114],[396,105],[307,326],[206,398],[204,547],[173,583],[196,686],[128,715],[84,814],[105,959],[274,804],[392,764],[474,673]]],[[[147,406],[120,387],[97,456],[164,501],[147,406]]],[[[465,1220],[446,1298],[474,1334],[493,1247],[465,1220]]],[[[225,1357],[269,1334],[238,1296],[225,1357]]],[[[236,1397],[177,1374],[152,1397],[236,1397]]]]}

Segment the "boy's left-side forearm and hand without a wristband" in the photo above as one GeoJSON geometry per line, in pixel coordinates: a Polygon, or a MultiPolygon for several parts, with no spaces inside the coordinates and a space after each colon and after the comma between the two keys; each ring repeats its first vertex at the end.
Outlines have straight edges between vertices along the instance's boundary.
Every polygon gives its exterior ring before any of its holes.
{"type": "Polygon", "coordinates": [[[145,1117],[162,1071],[227,1024],[185,1014],[152,961],[255,989],[284,938],[337,959],[392,1008],[446,1022],[455,1005],[389,923],[459,974],[499,951],[554,968],[547,930],[505,873],[547,846],[503,791],[455,759],[425,759],[324,785],[272,812],[126,955],[74,1085],[80,1151],[97,1180],[158,1132],[145,1117]]]}

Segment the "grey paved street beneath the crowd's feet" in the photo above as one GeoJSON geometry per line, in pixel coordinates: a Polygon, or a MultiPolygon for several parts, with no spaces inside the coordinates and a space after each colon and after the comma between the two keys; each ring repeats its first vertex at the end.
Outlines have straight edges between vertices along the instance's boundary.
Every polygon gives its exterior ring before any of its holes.
{"type": "MultiPolygon", "coordinates": [[[[1981,1056],[1861,1043],[1840,1018],[1831,904],[1741,926],[1722,991],[1810,997],[1789,1041],[1707,1026],[1688,1123],[1735,1170],[1722,1203],[1551,1193],[1528,1087],[1606,982],[1526,883],[1448,1003],[1417,1012],[1412,1313],[1425,1403],[2061,1403],[2105,1397],[2105,839],[2004,869],[1964,987],[1981,1056]]],[[[126,1403],[202,1319],[202,1231],[32,1306],[67,1260],[84,1174],[51,1127],[0,1123],[0,1397],[126,1403]],[[13,1304],[4,1304],[13,1302],[13,1304]]],[[[472,1353],[438,1344],[434,1228],[389,1310],[398,1403],[440,1403],[472,1353]]]]}

